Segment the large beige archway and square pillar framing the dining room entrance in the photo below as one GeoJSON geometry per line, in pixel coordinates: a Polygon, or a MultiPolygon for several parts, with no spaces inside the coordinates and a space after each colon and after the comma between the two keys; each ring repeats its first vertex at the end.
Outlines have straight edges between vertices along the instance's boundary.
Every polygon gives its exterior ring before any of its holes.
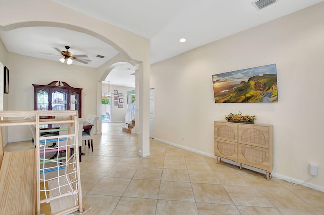
{"type": "MultiPolygon", "coordinates": [[[[141,145],[139,155],[149,156],[149,40],[52,1],[31,0],[21,4],[8,2],[0,8],[0,20],[0,28],[5,31],[20,27],[53,26],[83,32],[113,46],[127,62],[139,64],[137,76],[138,126],[141,145]],[[11,14],[16,16],[11,16],[11,14]],[[58,16],[58,14],[68,14],[70,19],[58,16]]],[[[97,77],[102,77],[104,71],[105,68],[98,68],[97,77]]],[[[98,78],[98,82],[102,80],[98,78]]],[[[98,83],[97,100],[101,96],[101,88],[101,83],[98,83]]],[[[98,113],[100,112],[97,108],[98,113]]]]}

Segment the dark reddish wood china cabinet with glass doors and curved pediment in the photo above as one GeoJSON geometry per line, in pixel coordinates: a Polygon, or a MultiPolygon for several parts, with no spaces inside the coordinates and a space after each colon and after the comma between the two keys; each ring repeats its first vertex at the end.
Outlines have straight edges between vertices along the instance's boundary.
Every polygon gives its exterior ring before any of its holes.
{"type": "Polygon", "coordinates": [[[63,81],[52,81],[47,85],[33,84],[34,110],[78,111],[81,117],[81,90],[63,81]]]}

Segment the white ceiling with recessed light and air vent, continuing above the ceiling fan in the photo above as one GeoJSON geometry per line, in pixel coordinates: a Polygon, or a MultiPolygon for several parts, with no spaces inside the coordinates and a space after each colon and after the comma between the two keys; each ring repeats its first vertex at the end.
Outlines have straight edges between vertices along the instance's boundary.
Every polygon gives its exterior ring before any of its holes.
{"type": "MultiPolygon", "coordinates": [[[[156,63],[324,0],[277,0],[262,10],[256,9],[253,0],[52,1],[150,39],[151,63],[156,63]],[[180,43],[180,38],[187,41],[180,43]]],[[[61,57],[56,49],[63,51],[68,45],[73,55],[85,54],[88,58],[80,59],[91,60],[89,64],[76,61],[73,64],[92,68],[98,68],[118,53],[97,38],[63,28],[0,31],[0,39],[9,52],[53,61],[61,57]],[[98,54],[105,58],[97,58],[98,54]]],[[[121,65],[116,70],[114,79],[123,72],[124,79],[134,72],[129,65],[121,65]]],[[[117,85],[109,76],[106,80],[117,85]]],[[[130,83],[123,81],[118,85],[135,87],[135,77],[132,75],[130,79],[130,83]]]]}

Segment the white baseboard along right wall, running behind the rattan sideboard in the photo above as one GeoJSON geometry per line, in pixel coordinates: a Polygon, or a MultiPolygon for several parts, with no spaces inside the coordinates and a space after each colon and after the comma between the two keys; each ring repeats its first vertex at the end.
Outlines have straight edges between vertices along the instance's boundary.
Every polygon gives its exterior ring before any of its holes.
{"type": "MultiPolygon", "coordinates": [[[[168,145],[172,145],[172,146],[175,146],[175,147],[178,147],[178,148],[182,148],[182,149],[185,149],[185,150],[188,150],[188,151],[195,152],[197,154],[201,154],[201,155],[212,157],[212,158],[216,159],[216,157],[213,154],[208,154],[208,153],[205,153],[205,152],[202,152],[202,151],[198,151],[198,150],[195,150],[195,149],[192,149],[192,148],[188,148],[188,147],[178,145],[178,144],[175,144],[175,143],[172,143],[172,142],[168,142],[168,141],[165,141],[165,140],[161,140],[161,139],[158,139],[158,138],[154,138],[154,140],[157,140],[159,142],[166,143],[168,145]]],[[[224,159],[224,158],[222,158],[222,160],[224,160],[227,163],[239,166],[238,163],[233,162],[231,160],[227,160],[227,159],[224,159]]],[[[257,169],[257,168],[253,168],[253,167],[246,166],[246,165],[242,165],[242,167],[246,168],[246,169],[249,169],[249,170],[253,170],[253,171],[265,174],[265,171],[257,169]]],[[[271,176],[273,178],[282,179],[282,180],[285,180],[285,181],[288,181],[288,182],[292,182],[292,183],[295,183],[295,184],[299,184],[299,185],[302,185],[302,186],[305,186],[305,187],[312,188],[314,190],[319,190],[319,191],[324,192],[324,187],[321,187],[321,186],[318,186],[318,185],[315,185],[315,184],[311,184],[311,183],[309,183],[307,181],[302,181],[302,180],[299,180],[299,179],[291,178],[291,177],[281,175],[281,174],[277,174],[277,173],[274,173],[274,172],[272,172],[271,176]]]]}

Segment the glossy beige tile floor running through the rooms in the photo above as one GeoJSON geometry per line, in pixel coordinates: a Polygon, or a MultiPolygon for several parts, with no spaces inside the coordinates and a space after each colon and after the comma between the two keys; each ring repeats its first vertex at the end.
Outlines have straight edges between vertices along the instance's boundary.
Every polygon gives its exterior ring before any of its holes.
{"type": "MultiPolygon", "coordinates": [[[[153,139],[151,156],[141,158],[124,125],[103,124],[94,152],[82,146],[85,214],[324,214],[324,192],[153,139]]],[[[12,147],[20,146],[5,150],[12,147]]]]}

